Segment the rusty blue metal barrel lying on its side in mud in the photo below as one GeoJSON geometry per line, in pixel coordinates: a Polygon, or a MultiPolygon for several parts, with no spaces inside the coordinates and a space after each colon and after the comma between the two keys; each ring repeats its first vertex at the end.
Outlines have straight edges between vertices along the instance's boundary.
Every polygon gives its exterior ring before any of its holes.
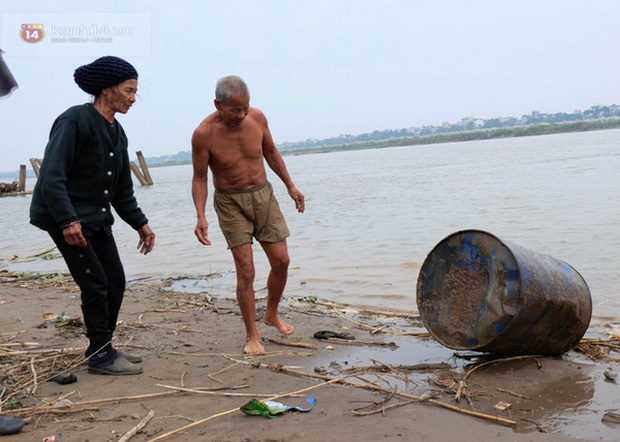
{"type": "Polygon", "coordinates": [[[417,283],[420,317],[455,350],[559,354],[592,317],[584,278],[569,264],[481,230],[453,233],[426,257],[417,283]]]}

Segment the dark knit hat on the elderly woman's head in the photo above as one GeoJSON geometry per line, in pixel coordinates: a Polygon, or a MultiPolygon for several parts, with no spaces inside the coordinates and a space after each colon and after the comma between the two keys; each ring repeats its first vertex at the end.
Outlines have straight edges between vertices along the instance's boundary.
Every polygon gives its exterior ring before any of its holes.
{"type": "Polygon", "coordinates": [[[138,78],[138,71],[122,58],[111,55],[80,66],[73,73],[80,89],[91,95],[99,95],[103,89],[134,78],[138,78]]]}

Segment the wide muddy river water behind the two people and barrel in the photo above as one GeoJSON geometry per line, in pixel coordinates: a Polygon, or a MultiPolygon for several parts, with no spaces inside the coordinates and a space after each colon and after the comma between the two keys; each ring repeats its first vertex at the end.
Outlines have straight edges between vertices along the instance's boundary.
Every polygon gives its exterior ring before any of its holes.
{"type": "MultiPolygon", "coordinates": [[[[505,140],[287,156],[307,211],[295,213],[271,177],[287,217],[292,268],[287,293],[414,310],[419,267],[448,234],[487,230],[562,259],[586,279],[594,315],[620,316],[620,130],[505,140]]],[[[230,252],[209,202],[213,245],[198,244],[191,167],[151,170],[138,200],[156,231],[148,257],[137,237],[115,226],[131,278],[186,275],[187,289],[233,293],[230,252]],[[199,278],[218,273],[209,282],[199,278]]],[[[33,183],[29,183],[32,187],[33,183]]],[[[51,246],[27,223],[30,197],[0,199],[0,258],[51,246]]],[[[256,246],[257,284],[267,263],[256,246]]],[[[62,269],[60,260],[0,261],[0,268],[62,269]]]]}

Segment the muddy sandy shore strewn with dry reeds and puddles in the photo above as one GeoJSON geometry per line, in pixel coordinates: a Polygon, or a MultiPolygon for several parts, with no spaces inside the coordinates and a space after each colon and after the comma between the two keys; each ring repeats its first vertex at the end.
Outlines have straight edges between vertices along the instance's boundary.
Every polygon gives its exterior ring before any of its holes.
{"type": "MultiPolygon", "coordinates": [[[[86,340],[72,320],[81,313],[69,278],[2,280],[0,381],[9,392],[1,414],[27,421],[7,441],[129,440],[123,435],[151,411],[132,441],[615,440],[620,430],[602,421],[620,406],[618,385],[604,375],[618,371],[613,351],[598,360],[571,351],[489,362],[424,337],[413,313],[286,299],[283,316],[295,333],[283,339],[261,323],[267,354],[244,356],[234,300],[172,292],[166,282],[133,283],[115,345],[142,354],[144,373],[101,376],[81,360],[86,340]],[[321,330],[351,334],[358,345],[315,339],[321,330]],[[67,367],[77,382],[46,382],[67,367]],[[454,381],[463,378],[457,401],[454,381]],[[238,410],[252,398],[305,389],[274,400],[303,408],[304,397],[314,398],[308,413],[272,420],[238,410]]],[[[264,304],[257,300],[259,318],[264,304]]]]}

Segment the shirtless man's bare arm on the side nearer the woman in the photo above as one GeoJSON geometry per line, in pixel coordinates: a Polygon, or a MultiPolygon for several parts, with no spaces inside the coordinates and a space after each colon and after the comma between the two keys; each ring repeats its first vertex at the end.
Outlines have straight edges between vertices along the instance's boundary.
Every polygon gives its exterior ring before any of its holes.
{"type": "Polygon", "coordinates": [[[192,136],[192,165],[194,174],[192,176],[192,198],[196,208],[196,228],[194,234],[198,241],[205,246],[211,245],[209,241],[209,223],[206,216],[207,205],[207,168],[209,167],[209,148],[207,145],[207,135],[205,129],[200,125],[192,136]]]}

